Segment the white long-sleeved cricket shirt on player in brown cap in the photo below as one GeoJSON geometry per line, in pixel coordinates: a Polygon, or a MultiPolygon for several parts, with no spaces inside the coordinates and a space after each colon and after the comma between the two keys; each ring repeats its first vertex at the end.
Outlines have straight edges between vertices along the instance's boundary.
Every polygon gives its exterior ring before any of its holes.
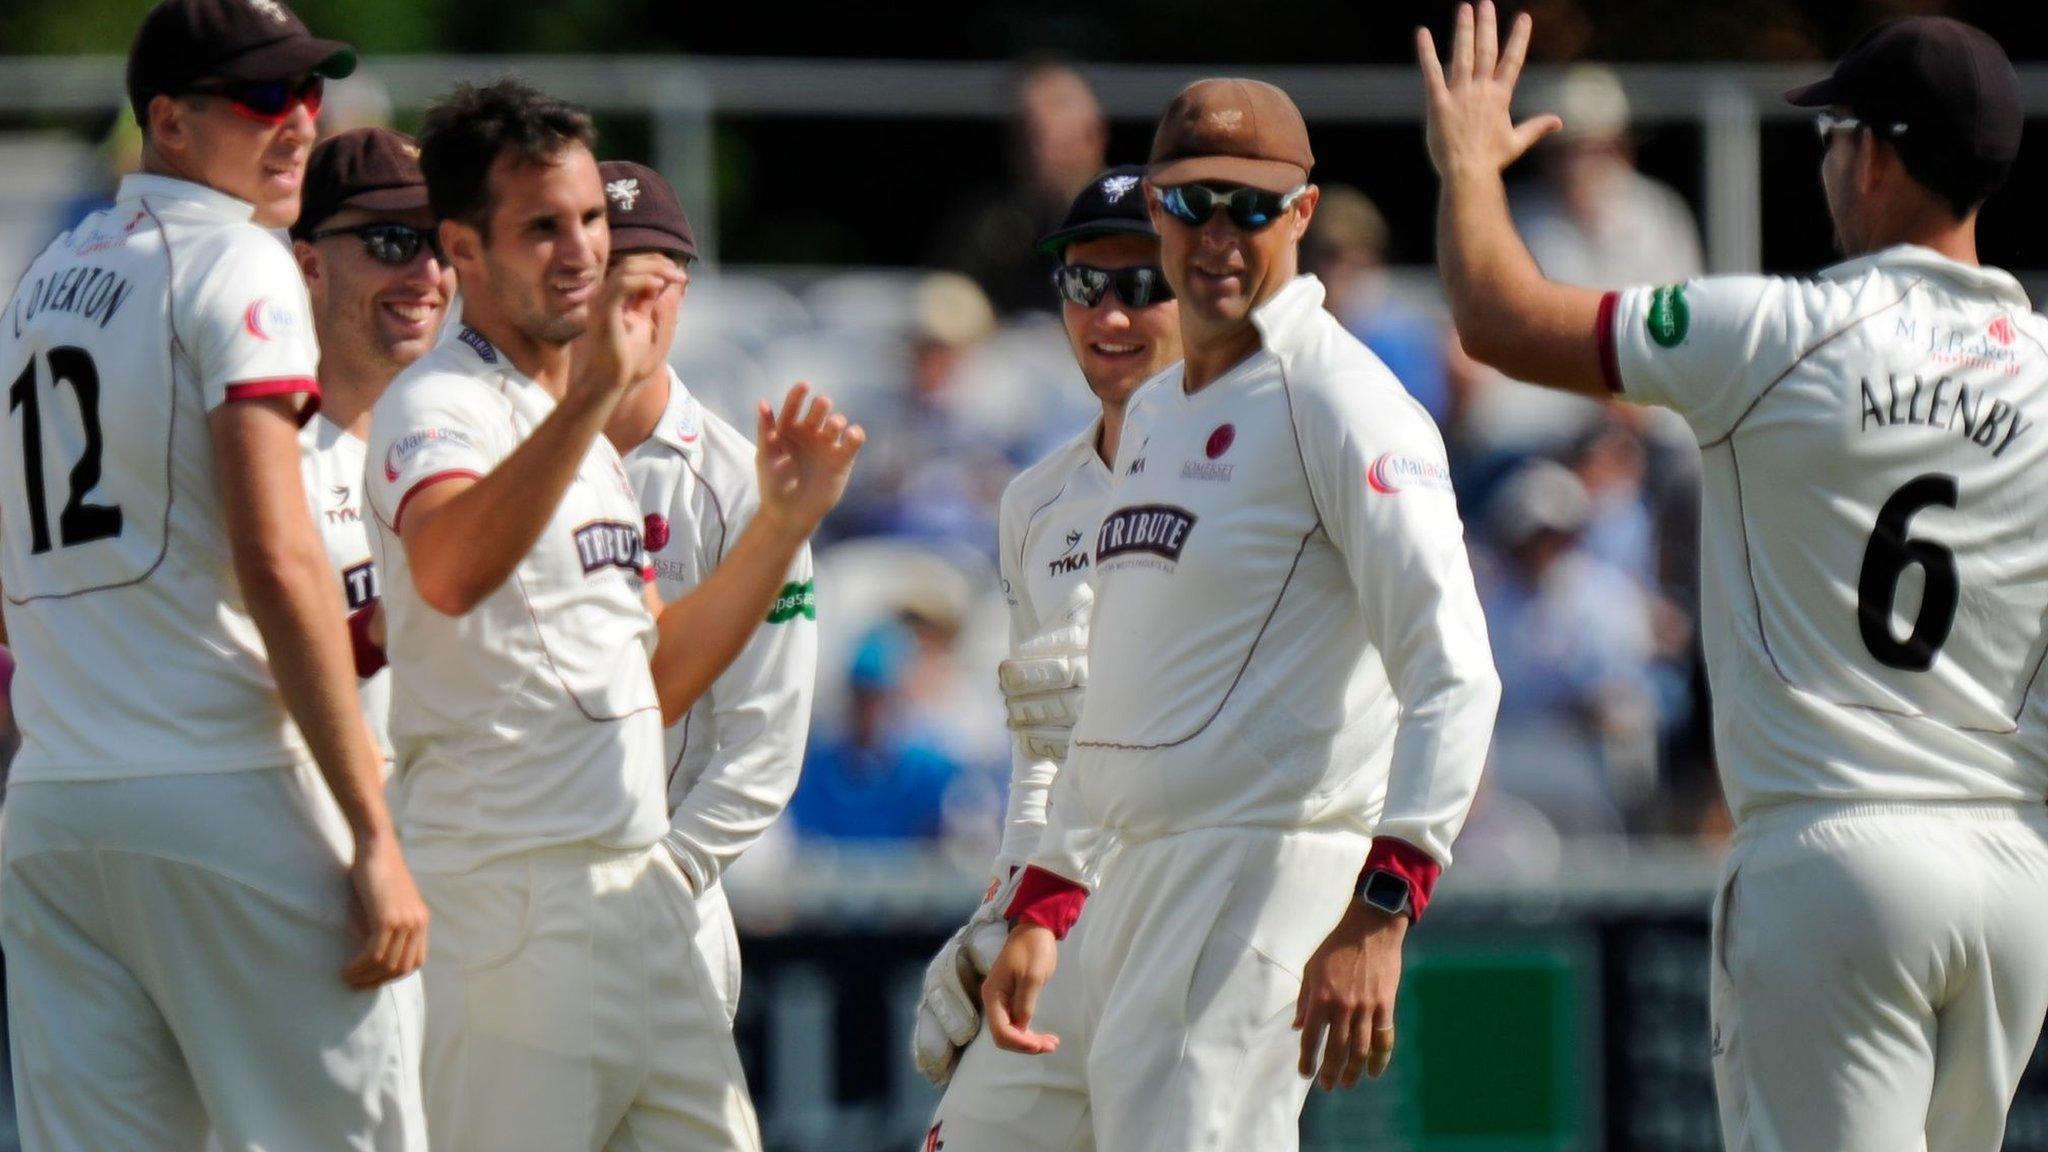
{"type": "Polygon", "coordinates": [[[1339,828],[1450,863],[1499,701],[1444,445],[1300,277],[1262,348],[1130,404],[1096,531],[1090,685],[1032,859],[1339,828]]]}

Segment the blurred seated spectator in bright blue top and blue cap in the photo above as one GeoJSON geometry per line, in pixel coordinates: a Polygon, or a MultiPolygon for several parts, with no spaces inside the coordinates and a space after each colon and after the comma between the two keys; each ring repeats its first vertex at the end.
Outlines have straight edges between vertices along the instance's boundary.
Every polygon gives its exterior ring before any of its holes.
{"type": "Polygon", "coordinates": [[[946,830],[946,791],[961,765],[918,724],[915,617],[866,635],[848,672],[846,732],[811,740],[788,814],[799,836],[834,840],[926,840],[946,830]]]}

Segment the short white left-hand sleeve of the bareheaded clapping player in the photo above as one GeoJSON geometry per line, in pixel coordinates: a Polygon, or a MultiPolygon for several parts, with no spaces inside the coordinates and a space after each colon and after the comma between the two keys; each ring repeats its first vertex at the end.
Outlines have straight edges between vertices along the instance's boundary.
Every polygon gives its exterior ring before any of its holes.
{"type": "Polygon", "coordinates": [[[510,424],[485,387],[459,375],[399,377],[371,416],[365,488],[391,531],[406,502],[444,480],[481,480],[510,453],[510,424]]]}

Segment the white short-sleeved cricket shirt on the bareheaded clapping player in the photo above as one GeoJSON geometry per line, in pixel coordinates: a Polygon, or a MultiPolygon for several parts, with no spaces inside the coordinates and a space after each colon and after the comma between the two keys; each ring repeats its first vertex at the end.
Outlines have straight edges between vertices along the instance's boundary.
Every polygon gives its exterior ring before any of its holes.
{"type": "Polygon", "coordinates": [[[489,340],[449,324],[371,414],[397,822],[420,869],[561,845],[645,849],[668,826],[647,553],[610,441],[592,441],[532,551],[463,617],[420,599],[399,541],[414,494],[487,476],[553,410],[489,340]]]}

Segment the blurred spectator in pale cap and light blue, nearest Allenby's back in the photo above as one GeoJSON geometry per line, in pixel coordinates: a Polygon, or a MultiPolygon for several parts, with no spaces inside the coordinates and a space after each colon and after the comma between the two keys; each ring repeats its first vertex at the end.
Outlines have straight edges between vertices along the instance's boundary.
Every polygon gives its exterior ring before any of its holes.
{"type": "Polygon", "coordinates": [[[1657,769],[1653,605],[1585,549],[1591,515],[1571,469],[1532,459],[1487,502],[1473,558],[1501,672],[1493,785],[1567,836],[1620,834],[1657,769]]]}

